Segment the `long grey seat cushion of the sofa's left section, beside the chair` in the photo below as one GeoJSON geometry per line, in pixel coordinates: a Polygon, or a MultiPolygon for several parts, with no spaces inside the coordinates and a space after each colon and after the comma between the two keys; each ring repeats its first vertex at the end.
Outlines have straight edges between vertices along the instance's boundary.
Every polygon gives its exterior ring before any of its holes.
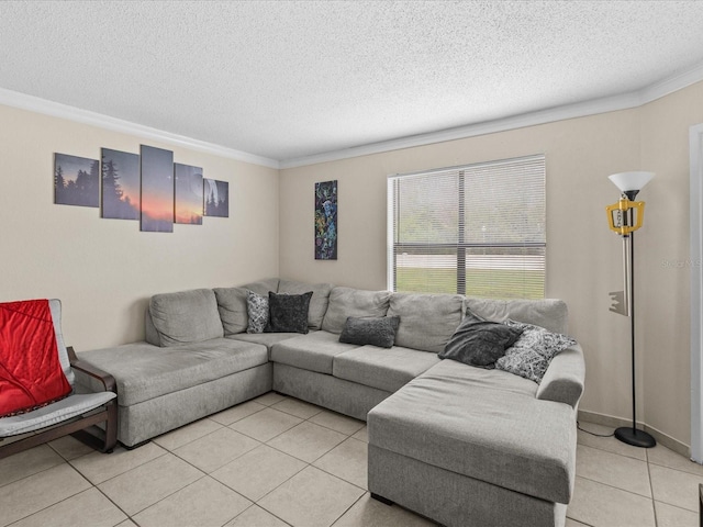
{"type": "Polygon", "coordinates": [[[169,348],[135,343],[82,351],[79,357],[114,377],[120,406],[179,392],[268,362],[265,346],[230,338],[169,348]]]}

